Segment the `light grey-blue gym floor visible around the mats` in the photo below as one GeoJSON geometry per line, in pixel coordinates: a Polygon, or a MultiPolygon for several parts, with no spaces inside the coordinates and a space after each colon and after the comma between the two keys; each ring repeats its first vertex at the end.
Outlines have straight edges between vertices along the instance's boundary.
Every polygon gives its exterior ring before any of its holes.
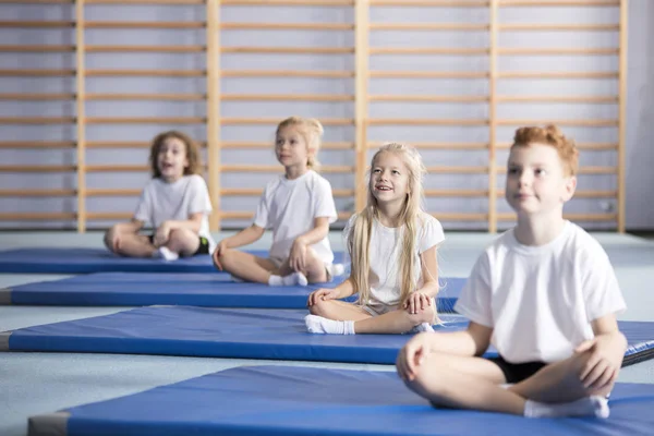
{"type": "MultiPolygon", "coordinates": [[[[223,233],[222,237],[230,233],[223,233]]],[[[594,234],[616,269],[628,311],[625,320],[654,322],[654,242],[631,235],[594,234]]],[[[216,234],[219,239],[220,235],[216,234]]],[[[450,233],[444,244],[440,270],[444,276],[464,277],[482,249],[493,240],[486,233],[450,233]]],[[[342,250],[340,233],[330,239],[342,250]]],[[[100,233],[20,232],[0,233],[0,250],[25,246],[101,246],[100,233]]],[[[253,249],[267,249],[266,234],[253,249]]],[[[0,288],[68,276],[0,275],[0,288]]],[[[0,306],[0,331],[60,320],[99,316],[125,307],[0,306]]],[[[654,331],[652,337],[654,338],[654,331]]],[[[31,415],[138,392],[156,386],[241,365],[306,365],[393,371],[389,365],[320,362],[254,361],[120,354],[0,353],[0,435],[26,434],[31,415]]],[[[625,368],[620,382],[654,384],[654,361],[625,368]]]]}

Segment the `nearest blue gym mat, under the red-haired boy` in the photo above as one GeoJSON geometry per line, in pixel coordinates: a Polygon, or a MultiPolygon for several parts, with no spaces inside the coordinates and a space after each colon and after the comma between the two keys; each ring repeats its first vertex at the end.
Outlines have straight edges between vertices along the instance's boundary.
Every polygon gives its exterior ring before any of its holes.
{"type": "Polygon", "coordinates": [[[395,372],[252,366],[33,416],[28,427],[32,436],[652,434],[654,385],[616,384],[609,407],[606,420],[435,409],[395,372]]]}

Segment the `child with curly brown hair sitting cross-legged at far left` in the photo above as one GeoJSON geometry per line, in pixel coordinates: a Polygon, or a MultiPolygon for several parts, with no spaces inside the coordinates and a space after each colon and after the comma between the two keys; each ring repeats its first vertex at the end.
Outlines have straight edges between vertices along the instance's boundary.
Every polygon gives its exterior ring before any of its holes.
{"type": "Polygon", "coordinates": [[[158,134],[150,146],[153,180],[143,189],[130,222],[112,226],[105,244],[113,253],[131,257],[209,254],[216,243],[209,233],[211,201],[199,175],[197,145],[178,131],[158,134]],[[149,223],[154,233],[140,234],[149,223]]]}

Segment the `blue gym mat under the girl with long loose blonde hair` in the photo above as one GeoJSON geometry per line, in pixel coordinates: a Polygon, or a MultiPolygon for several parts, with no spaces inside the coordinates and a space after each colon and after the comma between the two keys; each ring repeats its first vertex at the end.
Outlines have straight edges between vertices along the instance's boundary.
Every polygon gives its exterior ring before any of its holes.
{"type": "MultiPolygon", "coordinates": [[[[205,358],[395,363],[409,335],[313,335],[306,310],[153,306],[0,334],[0,351],[162,354],[205,358]]],[[[443,315],[437,330],[468,320],[443,315]]],[[[651,359],[654,323],[621,322],[625,364],[651,359]]],[[[497,355],[491,350],[487,355],[497,355]]]]}

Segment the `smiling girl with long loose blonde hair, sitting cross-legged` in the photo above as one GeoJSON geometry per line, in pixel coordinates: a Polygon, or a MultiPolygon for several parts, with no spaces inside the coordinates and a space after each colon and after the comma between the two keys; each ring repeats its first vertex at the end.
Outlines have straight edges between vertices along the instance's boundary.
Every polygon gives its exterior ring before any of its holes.
{"type": "Polygon", "coordinates": [[[384,145],[373,157],[367,205],[343,231],[350,277],[308,296],[314,334],[402,334],[432,330],[438,293],[440,222],[422,208],[425,168],[417,150],[384,145]],[[354,293],[355,304],[338,301],[354,293]]]}

